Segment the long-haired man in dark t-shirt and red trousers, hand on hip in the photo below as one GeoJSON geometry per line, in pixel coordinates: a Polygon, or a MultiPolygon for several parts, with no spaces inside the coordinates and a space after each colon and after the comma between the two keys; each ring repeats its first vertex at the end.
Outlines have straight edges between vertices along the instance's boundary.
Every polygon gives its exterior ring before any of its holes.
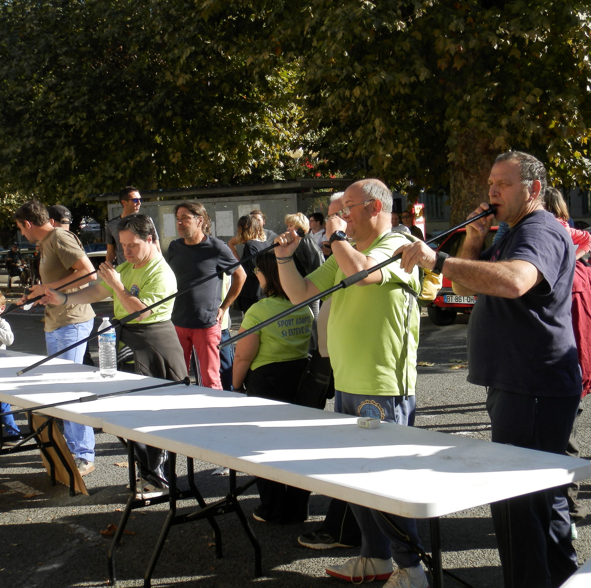
{"type": "MultiPolygon", "coordinates": [[[[236,263],[228,245],[207,234],[211,220],[203,204],[191,200],[181,202],[174,208],[174,214],[181,238],[168,246],[168,264],[177,276],[179,290],[236,263]]],[[[195,349],[203,386],[217,390],[222,389],[217,349],[222,337],[221,321],[246,279],[241,266],[226,273],[232,275],[232,285],[223,301],[220,276],[177,296],[171,319],[183,347],[187,371],[191,351],[195,349]]]]}

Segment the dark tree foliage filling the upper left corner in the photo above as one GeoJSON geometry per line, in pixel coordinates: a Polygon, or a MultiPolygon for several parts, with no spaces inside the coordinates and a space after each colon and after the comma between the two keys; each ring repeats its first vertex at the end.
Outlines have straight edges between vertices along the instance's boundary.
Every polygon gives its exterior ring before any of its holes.
{"type": "Polygon", "coordinates": [[[265,26],[239,0],[4,2],[0,190],[272,178],[301,115],[293,68],[261,74],[236,45],[265,26]]]}

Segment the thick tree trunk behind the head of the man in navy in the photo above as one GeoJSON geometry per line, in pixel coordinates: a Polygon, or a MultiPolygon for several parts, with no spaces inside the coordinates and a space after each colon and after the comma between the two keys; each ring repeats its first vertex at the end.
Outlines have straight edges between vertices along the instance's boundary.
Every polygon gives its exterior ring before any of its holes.
{"type": "Polygon", "coordinates": [[[479,137],[475,132],[467,131],[456,138],[456,159],[450,163],[449,170],[451,226],[466,220],[480,202],[489,202],[488,177],[499,155],[491,139],[479,137]]]}

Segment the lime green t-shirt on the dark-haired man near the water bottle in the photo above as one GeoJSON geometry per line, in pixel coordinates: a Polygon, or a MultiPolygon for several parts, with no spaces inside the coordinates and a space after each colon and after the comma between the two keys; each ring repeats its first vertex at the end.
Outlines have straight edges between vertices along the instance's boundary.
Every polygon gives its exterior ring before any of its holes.
{"type": "MultiPolygon", "coordinates": [[[[177,278],[160,254],[139,269],[134,269],[132,263],[125,262],[117,266],[117,271],[121,274],[121,282],[125,289],[137,296],[146,306],[150,306],[177,291],[177,278]]],[[[113,289],[109,288],[105,282],[102,282],[101,285],[113,294],[113,289]]],[[[150,325],[154,322],[170,321],[173,306],[174,298],[153,308],[151,315],[143,321],[135,319],[135,321],[129,321],[129,324],[134,325],[141,322],[142,325],[150,325]]],[[[129,314],[117,296],[113,296],[113,309],[116,319],[121,319],[129,314]]]]}

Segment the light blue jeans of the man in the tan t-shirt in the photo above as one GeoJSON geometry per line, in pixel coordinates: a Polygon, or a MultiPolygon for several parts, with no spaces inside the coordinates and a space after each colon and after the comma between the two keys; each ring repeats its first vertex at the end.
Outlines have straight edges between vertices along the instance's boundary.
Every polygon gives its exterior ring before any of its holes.
{"type": "MultiPolygon", "coordinates": [[[[59,329],[50,333],[46,332],[47,355],[53,355],[60,349],[69,347],[76,341],[80,341],[80,339],[85,339],[90,335],[94,324],[95,319],[90,319],[90,321],[79,322],[76,325],[60,326],[59,329]]],[[[86,343],[83,343],[59,357],[63,360],[82,364],[85,352],[86,343]]],[[[64,437],[68,449],[76,458],[84,458],[89,462],[95,460],[95,432],[92,427],[64,420],[64,437]]]]}

